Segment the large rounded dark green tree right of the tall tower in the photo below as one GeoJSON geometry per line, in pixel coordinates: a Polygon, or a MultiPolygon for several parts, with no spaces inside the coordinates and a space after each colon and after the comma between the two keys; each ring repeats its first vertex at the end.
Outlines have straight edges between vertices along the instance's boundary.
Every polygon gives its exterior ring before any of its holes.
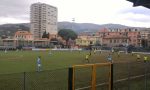
{"type": "Polygon", "coordinates": [[[59,30],[58,35],[61,36],[67,42],[70,38],[72,40],[75,40],[77,38],[77,34],[71,29],[61,29],[59,30]]]}

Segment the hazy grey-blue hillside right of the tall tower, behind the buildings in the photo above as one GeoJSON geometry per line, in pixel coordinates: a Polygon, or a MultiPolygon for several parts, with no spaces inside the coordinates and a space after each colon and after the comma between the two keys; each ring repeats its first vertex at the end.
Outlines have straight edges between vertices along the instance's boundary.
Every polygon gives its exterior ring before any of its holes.
{"type": "Polygon", "coordinates": [[[92,24],[92,23],[71,23],[71,22],[59,22],[58,29],[67,28],[73,29],[75,32],[95,32],[100,30],[101,28],[128,28],[129,26],[124,26],[120,24],[92,24]]]}

